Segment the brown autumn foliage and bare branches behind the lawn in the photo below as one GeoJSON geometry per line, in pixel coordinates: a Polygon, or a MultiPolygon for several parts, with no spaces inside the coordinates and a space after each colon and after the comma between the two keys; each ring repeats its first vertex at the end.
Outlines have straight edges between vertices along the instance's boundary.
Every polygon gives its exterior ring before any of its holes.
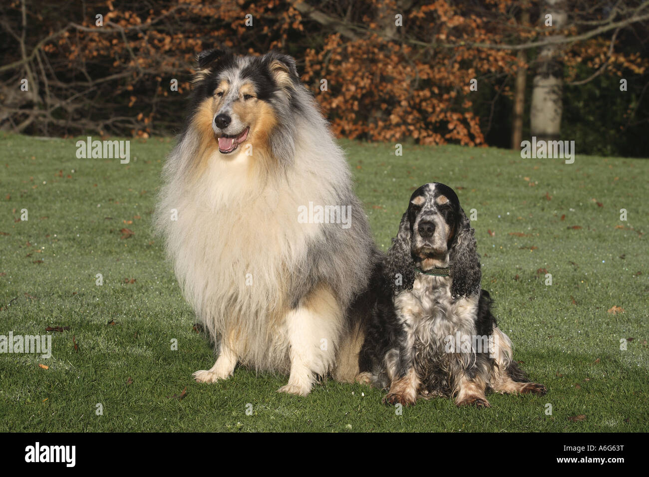
{"type": "MultiPolygon", "coordinates": [[[[259,54],[277,48],[297,58],[302,79],[339,136],[480,145],[491,119],[481,125],[471,79],[478,88],[493,82],[497,95],[511,96],[507,79],[528,65],[502,45],[543,42],[549,34],[538,26],[537,3],[514,0],[154,5],[36,1],[25,7],[14,0],[0,7],[0,40],[8,53],[0,68],[0,127],[142,137],[177,132],[199,51],[230,47],[259,54]],[[532,24],[517,21],[521,6],[537,14],[532,24]],[[395,12],[403,26],[395,25],[395,12]],[[101,27],[97,14],[103,15],[101,27]],[[23,78],[29,92],[19,91],[23,78]],[[177,91],[170,89],[172,79],[177,91]],[[326,91],[320,89],[323,79],[326,91]]],[[[592,12],[584,10],[584,18],[592,12]]],[[[566,34],[580,32],[572,26],[566,34]]],[[[637,55],[607,52],[601,36],[567,45],[568,79],[575,79],[578,64],[610,64],[613,72],[646,66],[637,55]]]]}

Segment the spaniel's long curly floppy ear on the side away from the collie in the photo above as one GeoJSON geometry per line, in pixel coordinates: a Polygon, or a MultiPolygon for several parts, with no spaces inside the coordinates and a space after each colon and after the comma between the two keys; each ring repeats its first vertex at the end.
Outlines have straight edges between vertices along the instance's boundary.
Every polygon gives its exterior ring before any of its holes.
{"type": "Polygon", "coordinates": [[[469,297],[480,293],[480,255],[478,255],[475,230],[464,210],[460,208],[458,232],[450,246],[450,293],[454,297],[469,297]]]}

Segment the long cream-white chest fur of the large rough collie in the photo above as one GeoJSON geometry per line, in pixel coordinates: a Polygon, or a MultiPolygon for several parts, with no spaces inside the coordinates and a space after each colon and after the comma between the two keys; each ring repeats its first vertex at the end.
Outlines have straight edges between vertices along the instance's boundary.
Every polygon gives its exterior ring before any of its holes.
{"type": "Polygon", "coordinates": [[[232,334],[239,361],[262,369],[287,369],[284,317],[291,304],[284,277],[306,267],[308,245],[323,227],[300,223],[299,208],[336,203],[326,175],[347,180],[346,164],[297,151],[295,164],[275,175],[255,171],[245,150],[214,153],[199,177],[165,185],[158,211],[178,282],[197,317],[213,339],[232,334]]]}

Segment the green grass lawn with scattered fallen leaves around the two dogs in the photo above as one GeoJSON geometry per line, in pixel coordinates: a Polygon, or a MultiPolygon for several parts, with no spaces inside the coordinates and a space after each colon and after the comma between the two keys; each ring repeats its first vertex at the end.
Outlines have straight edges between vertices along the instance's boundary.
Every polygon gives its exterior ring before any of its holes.
{"type": "Polygon", "coordinates": [[[0,335],[70,327],[47,333],[49,360],[0,354],[0,431],[649,430],[649,162],[577,156],[567,165],[454,146],[406,146],[395,157],[389,144],[343,145],[384,250],[424,182],[445,182],[467,213],[476,209],[483,287],[545,397],[489,395],[487,410],[440,398],[396,415],[382,391],[332,380],[306,398],[275,392],[286,376],[240,367],[197,384],[191,373],[214,354],[151,234],[172,141],[134,140],[123,165],[77,159],[74,140],[0,136],[0,335]],[[23,208],[29,221],[19,221],[23,208]],[[134,235],[121,238],[121,228],[134,235]],[[613,306],[624,313],[608,313],[613,306]]]}

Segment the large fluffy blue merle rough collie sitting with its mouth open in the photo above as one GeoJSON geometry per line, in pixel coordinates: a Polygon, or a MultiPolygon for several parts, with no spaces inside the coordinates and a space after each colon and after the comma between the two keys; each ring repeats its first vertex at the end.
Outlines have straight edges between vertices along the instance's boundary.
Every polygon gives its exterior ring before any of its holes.
{"type": "Polygon", "coordinates": [[[328,373],[353,381],[355,302],[377,252],[345,156],[290,56],[210,50],[197,60],[156,209],[218,351],[193,377],[212,383],[239,363],[289,374],[279,391],[297,395],[328,373]]]}

